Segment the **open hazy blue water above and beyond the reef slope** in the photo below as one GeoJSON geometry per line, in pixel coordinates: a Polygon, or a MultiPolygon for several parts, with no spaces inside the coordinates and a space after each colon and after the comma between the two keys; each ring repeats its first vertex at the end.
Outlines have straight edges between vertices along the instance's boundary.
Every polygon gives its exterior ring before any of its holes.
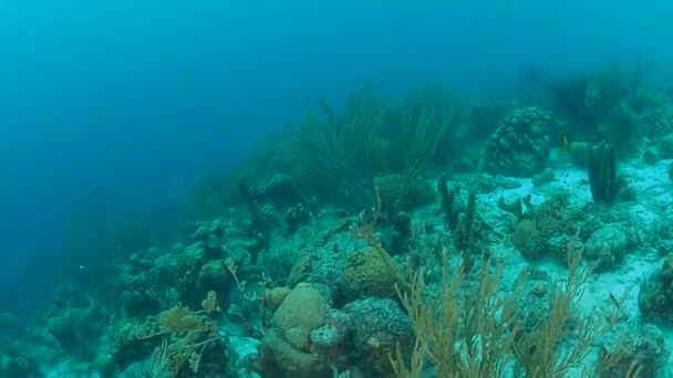
{"type": "Polygon", "coordinates": [[[530,70],[673,66],[665,1],[362,3],[0,2],[0,307],[96,261],[63,249],[73,211],[170,230],[199,175],[320,95],[366,78],[478,95],[530,70]]]}

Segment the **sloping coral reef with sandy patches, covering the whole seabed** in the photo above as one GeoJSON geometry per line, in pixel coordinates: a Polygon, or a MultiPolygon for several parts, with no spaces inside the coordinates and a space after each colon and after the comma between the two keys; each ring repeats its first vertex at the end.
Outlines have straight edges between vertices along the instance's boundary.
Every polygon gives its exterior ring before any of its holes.
{"type": "Polygon", "coordinates": [[[321,101],[172,246],[0,313],[0,376],[670,376],[673,113],[636,82],[321,101]]]}

